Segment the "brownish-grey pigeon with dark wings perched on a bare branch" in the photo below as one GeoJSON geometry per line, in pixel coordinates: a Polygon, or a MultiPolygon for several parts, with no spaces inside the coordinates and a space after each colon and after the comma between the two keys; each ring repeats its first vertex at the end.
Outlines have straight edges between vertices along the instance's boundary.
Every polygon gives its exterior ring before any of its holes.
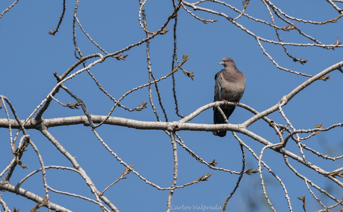
{"type": "MultiPolygon", "coordinates": [[[[233,59],[224,57],[219,64],[223,65],[224,69],[214,76],[214,102],[223,101],[225,103],[220,108],[226,118],[229,118],[243,96],[246,79],[245,75],[237,69],[233,59]],[[227,102],[234,102],[235,105],[228,105],[227,102]]],[[[225,123],[222,114],[216,107],[213,107],[213,123],[225,123]]],[[[213,134],[224,137],[226,131],[213,131],[213,134]]]]}

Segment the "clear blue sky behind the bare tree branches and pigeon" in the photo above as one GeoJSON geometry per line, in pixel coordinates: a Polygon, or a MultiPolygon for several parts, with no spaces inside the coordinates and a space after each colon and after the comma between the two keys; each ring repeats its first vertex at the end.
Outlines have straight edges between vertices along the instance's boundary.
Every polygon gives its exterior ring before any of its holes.
{"type": "MultiPolygon", "coordinates": [[[[226,1],[241,10],[241,1],[226,1]]],[[[11,1],[1,1],[0,11],[8,7],[11,1]]],[[[283,1],[275,5],[291,16],[304,20],[326,21],[339,14],[325,1],[283,1]]],[[[343,7],[343,4],[339,4],[343,7]]],[[[223,5],[211,2],[201,4],[212,10],[217,10],[231,17],[238,14],[223,5]]],[[[138,1],[84,1],[80,2],[78,18],[86,32],[97,44],[107,52],[116,52],[145,38],[145,33],[138,22],[138,1]]],[[[158,30],[167,17],[173,12],[171,1],[149,0],[145,4],[148,28],[158,30]]],[[[56,84],[53,72],[62,74],[77,61],[74,57],[72,22],[74,3],[67,2],[59,32],[55,36],[49,35],[58,23],[62,11],[62,1],[19,1],[0,20],[0,94],[7,96],[14,105],[20,119],[26,119],[34,108],[44,100],[45,96],[56,84]]],[[[190,9],[190,11],[193,11],[190,9]]],[[[203,24],[194,19],[182,8],[178,15],[177,44],[178,59],[182,54],[189,54],[189,60],[183,68],[194,72],[194,80],[185,76],[181,71],[175,73],[176,93],[180,114],[190,114],[197,108],[213,101],[214,75],[222,69],[219,62],[223,57],[235,60],[237,68],[247,78],[246,90],[241,103],[247,104],[258,111],[263,111],[280,101],[299,84],[308,78],[291,74],[277,69],[274,64],[263,55],[256,40],[228,22],[223,17],[193,11],[204,19],[218,19],[217,22],[203,24]]],[[[262,2],[251,1],[246,13],[269,22],[269,14],[262,2]]],[[[244,25],[251,32],[276,40],[273,28],[255,23],[241,17],[238,23],[244,25]]],[[[293,22],[293,21],[292,21],[293,22]]],[[[276,21],[280,26],[286,24],[276,21]]],[[[156,78],[160,78],[171,71],[173,55],[173,24],[168,24],[169,32],[152,39],[150,54],[152,70],[156,78]]],[[[299,23],[297,26],[305,33],[317,38],[323,44],[334,44],[338,36],[343,39],[342,19],[337,23],[325,25],[311,25],[299,23]]],[[[77,42],[83,55],[102,53],[76,27],[77,42]]],[[[296,31],[281,32],[284,42],[312,43],[299,36],[296,31]]],[[[340,41],[341,41],[340,40],[340,41]]],[[[319,47],[287,47],[291,55],[308,60],[305,65],[295,63],[287,57],[281,46],[263,43],[269,54],[285,68],[293,71],[315,75],[320,71],[343,60],[342,48],[326,50],[319,47]]],[[[108,58],[91,69],[100,84],[116,99],[124,93],[147,83],[148,72],[146,62],[146,45],[140,45],[125,52],[129,56],[126,61],[108,58]]],[[[87,64],[95,59],[87,61],[87,64]]],[[[79,69],[81,68],[78,67],[79,69]]],[[[292,101],[283,107],[287,118],[297,129],[312,129],[316,123],[323,122],[328,127],[343,120],[342,81],[343,75],[338,70],[331,72],[328,81],[316,81],[305,90],[298,93],[292,101]]],[[[85,102],[88,111],[95,115],[107,115],[113,102],[97,89],[90,76],[83,72],[66,85],[74,94],[85,102]]],[[[169,121],[178,121],[172,91],[172,80],[167,78],[158,83],[164,107],[169,121]]],[[[154,86],[152,87],[154,89],[154,86]]],[[[156,121],[147,87],[137,90],[121,103],[135,108],[142,102],[148,102],[142,111],[128,112],[117,107],[112,116],[130,118],[143,121],[156,121]]],[[[60,91],[55,96],[63,103],[75,102],[66,92],[60,91]]],[[[157,107],[159,117],[163,119],[161,108],[158,107],[156,92],[153,90],[153,101],[157,107]]],[[[5,118],[4,110],[0,111],[1,118],[5,118]]],[[[82,110],[72,110],[52,102],[43,118],[81,116],[82,110]]],[[[243,108],[236,108],[230,123],[243,123],[252,114],[243,108]]],[[[268,116],[277,123],[285,125],[280,113],[268,116]]],[[[13,118],[13,116],[11,117],[13,118]]],[[[212,109],[206,110],[192,123],[212,123],[212,109]]],[[[268,139],[272,143],[278,142],[275,132],[262,120],[255,122],[248,130],[268,139]]],[[[144,178],[161,186],[170,187],[173,178],[173,154],[170,138],[162,131],[136,130],[120,126],[106,126],[97,128],[99,135],[127,164],[134,164],[134,169],[144,178]]],[[[120,177],[124,167],[111,156],[94,136],[90,127],[83,125],[49,128],[49,132],[66,148],[80,165],[86,170],[99,190],[106,188],[111,182],[120,177]]],[[[45,165],[72,166],[63,155],[37,130],[28,130],[32,141],[42,154],[45,165]]],[[[8,165],[13,155],[9,145],[8,129],[1,128],[1,160],[0,169],[8,165]]],[[[238,142],[231,133],[224,138],[213,136],[211,132],[181,131],[179,135],[185,144],[205,161],[215,159],[217,167],[241,170],[241,151],[238,142]]],[[[328,132],[320,132],[310,140],[305,140],[307,146],[324,155],[340,156],[343,154],[343,131],[335,128],[328,132]]],[[[260,143],[244,135],[239,135],[254,151],[259,154],[263,147],[260,143]]],[[[304,136],[301,134],[300,136],[304,136]]],[[[306,136],[304,136],[306,137],[306,136]]],[[[287,150],[300,155],[297,144],[290,141],[287,150]]],[[[341,160],[323,160],[316,155],[306,152],[306,158],[327,171],[342,167],[341,160]]],[[[294,211],[302,210],[302,202],[297,200],[303,194],[306,196],[308,211],[320,210],[320,205],[314,200],[304,185],[303,180],[297,178],[285,165],[282,155],[267,150],[263,160],[272,168],[286,185],[294,211]]],[[[177,207],[222,206],[226,197],[233,190],[237,175],[209,169],[200,164],[187,151],[178,146],[179,172],[177,185],[186,184],[206,172],[212,173],[208,181],[199,182],[174,192],[171,204],[177,207]]],[[[329,191],[336,198],[342,198],[342,188],[330,180],[308,170],[303,165],[289,159],[301,174],[313,180],[317,185],[329,191]]],[[[28,173],[40,167],[37,156],[32,148],[28,148],[22,157],[22,162],[28,169],[17,167],[11,183],[16,183],[28,173]]],[[[246,168],[257,169],[257,161],[246,150],[246,168]]],[[[144,183],[136,175],[130,173],[127,179],[120,180],[105,192],[120,211],[164,211],[169,191],[160,191],[144,183]]],[[[263,177],[267,184],[267,193],[277,211],[287,211],[287,202],[279,182],[265,169],[263,177]]],[[[1,179],[2,180],[2,179],[1,179]]],[[[82,178],[67,170],[47,170],[47,182],[52,188],[68,191],[94,198],[90,189],[82,178]]],[[[29,178],[22,188],[44,196],[42,175],[35,174],[29,178]]],[[[315,190],[315,189],[314,189],[315,190]]],[[[49,192],[50,200],[73,211],[99,211],[99,208],[85,200],[63,196],[49,192]]],[[[316,191],[318,198],[327,206],[334,204],[316,191]]],[[[10,209],[20,208],[28,211],[35,203],[26,198],[5,192],[1,198],[10,209]]],[[[258,174],[245,175],[238,190],[228,203],[228,211],[265,211],[269,208],[263,198],[258,174]],[[255,204],[255,205],[254,205],[255,204]],[[252,206],[251,206],[252,205],[252,206]]],[[[3,209],[1,208],[0,211],[3,209]]],[[[40,211],[47,211],[41,208],[40,211]]],[[[175,210],[178,211],[178,210],[175,210]]],[[[201,211],[201,210],[193,210],[201,211]]],[[[211,210],[208,210],[211,211],[211,210]]]]}

